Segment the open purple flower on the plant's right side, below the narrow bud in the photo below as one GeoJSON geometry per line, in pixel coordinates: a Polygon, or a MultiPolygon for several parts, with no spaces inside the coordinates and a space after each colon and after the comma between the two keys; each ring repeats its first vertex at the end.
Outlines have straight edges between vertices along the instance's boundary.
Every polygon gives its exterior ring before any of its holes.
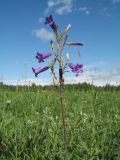
{"type": "Polygon", "coordinates": [[[69,63],[68,66],[72,69],[72,72],[76,73],[76,76],[79,76],[79,73],[82,73],[83,64],[72,64],[69,63]]]}

